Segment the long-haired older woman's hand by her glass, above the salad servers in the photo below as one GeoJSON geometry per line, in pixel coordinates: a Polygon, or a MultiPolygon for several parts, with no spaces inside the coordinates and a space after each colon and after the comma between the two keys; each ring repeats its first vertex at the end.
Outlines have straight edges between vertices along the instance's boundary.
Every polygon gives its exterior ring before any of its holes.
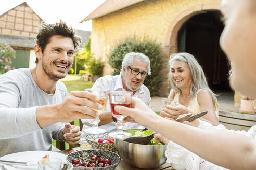
{"type": "Polygon", "coordinates": [[[160,113],[160,116],[168,117],[170,119],[177,119],[178,116],[187,114],[189,112],[191,111],[181,104],[176,104],[176,106],[167,105],[160,113]]]}

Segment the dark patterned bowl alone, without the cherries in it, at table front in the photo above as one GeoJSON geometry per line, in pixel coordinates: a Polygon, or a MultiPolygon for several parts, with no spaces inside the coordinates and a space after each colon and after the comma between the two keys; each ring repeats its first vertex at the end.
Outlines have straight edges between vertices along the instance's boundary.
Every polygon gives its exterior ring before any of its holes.
{"type": "Polygon", "coordinates": [[[74,166],[73,170],[84,170],[84,169],[113,170],[113,169],[116,169],[120,160],[121,158],[117,153],[114,153],[108,150],[97,150],[97,149],[79,150],[79,151],[72,152],[67,156],[67,162],[71,163],[74,166]],[[82,166],[77,166],[72,164],[73,159],[80,160],[81,162],[85,162],[86,158],[91,158],[93,154],[97,155],[98,159],[100,157],[104,159],[109,159],[111,161],[111,165],[106,167],[82,167],[82,166]]]}

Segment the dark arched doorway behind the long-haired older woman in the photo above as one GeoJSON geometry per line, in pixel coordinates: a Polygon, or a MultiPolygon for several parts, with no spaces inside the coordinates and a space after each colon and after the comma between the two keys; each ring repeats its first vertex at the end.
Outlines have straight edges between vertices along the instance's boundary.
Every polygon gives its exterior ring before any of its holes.
{"type": "Polygon", "coordinates": [[[189,18],[178,31],[177,50],[196,57],[213,91],[231,91],[228,59],[219,43],[224,29],[220,18],[219,10],[204,11],[189,18]]]}

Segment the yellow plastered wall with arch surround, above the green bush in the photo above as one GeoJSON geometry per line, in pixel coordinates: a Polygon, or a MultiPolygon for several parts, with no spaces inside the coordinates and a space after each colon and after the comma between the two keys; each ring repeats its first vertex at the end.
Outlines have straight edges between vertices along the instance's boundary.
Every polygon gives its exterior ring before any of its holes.
{"type": "MultiPolygon", "coordinates": [[[[221,0],[145,0],[103,17],[93,19],[91,52],[96,58],[103,57],[103,75],[111,73],[107,64],[108,54],[119,40],[127,37],[156,39],[161,43],[166,60],[177,52],[177,31],[191,16],[204,10],[219,9],[221,0]]],[[[167,74],[166,65],[163,74],[167,74]]],[[[169,84],[167,79],[163,84],[169,84]]],[[[162,86],[160,91],[169,93],[170,88],[162,86]]]]}

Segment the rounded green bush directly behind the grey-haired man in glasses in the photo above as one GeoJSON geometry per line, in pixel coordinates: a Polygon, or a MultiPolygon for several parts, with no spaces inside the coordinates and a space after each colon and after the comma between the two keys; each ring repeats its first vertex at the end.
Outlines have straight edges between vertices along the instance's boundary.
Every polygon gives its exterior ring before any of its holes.
{"type": "Polygon", "coordinates": [[[137,40],[136,38],[127,38],[121,41],[109,55],[109,64],[114,69],[112,75],[120,73],[122,60],[126,53],[140,52],[144,53],[150,59],[151,75],[145,79],[145,86],[148,87],[151,96],[156,95],[163,81],[160,75],[162,69],[162,49],[159,43],[149,38],[137,40]]]}

